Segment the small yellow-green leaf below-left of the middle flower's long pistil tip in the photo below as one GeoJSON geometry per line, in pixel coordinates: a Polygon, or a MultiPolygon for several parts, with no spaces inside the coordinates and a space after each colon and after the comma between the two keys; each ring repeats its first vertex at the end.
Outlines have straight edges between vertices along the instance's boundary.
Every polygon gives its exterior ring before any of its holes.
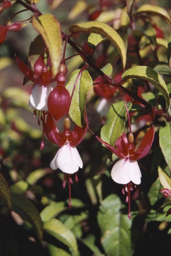
{"type": "Polygon", "coordinates": [[[41,211],[41,219],[43,222],[49,221],[65,209],[64,202],[52,202],[41,211]]]}

